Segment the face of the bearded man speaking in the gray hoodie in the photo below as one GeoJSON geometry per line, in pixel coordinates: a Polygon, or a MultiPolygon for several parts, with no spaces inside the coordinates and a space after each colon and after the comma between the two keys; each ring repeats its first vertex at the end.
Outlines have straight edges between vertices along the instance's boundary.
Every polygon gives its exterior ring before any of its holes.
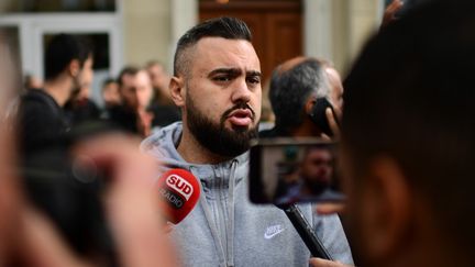
{"type": "Polygon", "coordinates": [[[211,152],[236,156],[248,149],[261,119],[261,65],[254,47],[244,40],[206,37],[190,53],[184,122],[211,152]]]}

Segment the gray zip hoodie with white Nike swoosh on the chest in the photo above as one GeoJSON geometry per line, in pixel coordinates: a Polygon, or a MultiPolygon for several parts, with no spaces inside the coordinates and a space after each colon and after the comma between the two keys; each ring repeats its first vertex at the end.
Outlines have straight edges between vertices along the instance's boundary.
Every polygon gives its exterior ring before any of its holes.
{"type": "MultiPolygon", "coordinates": [[[[248,154],[217,165],[188,164],[176,151],[180,136],[177,122],[146,138],[142,149],[165,169],[184,168],[200,180],[198,204],[173,230],[183,266],[308,266],[310,253],[286,214],[250,202],[248,154]]],[[[339,218],[314,215],[310,204],[300,208],[330,254],[352,264],[339,218]]]]}

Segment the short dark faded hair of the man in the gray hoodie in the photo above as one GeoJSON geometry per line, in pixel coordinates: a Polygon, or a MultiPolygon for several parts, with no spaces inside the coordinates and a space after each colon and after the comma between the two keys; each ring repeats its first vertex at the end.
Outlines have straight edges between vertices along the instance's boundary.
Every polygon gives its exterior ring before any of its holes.
{"type": "Polygon", "coordinates": [[[252,41],[251,31],[244,21],[236,18],[217,18],[205,21],[188,30],[179,40],[174,58],[174,76],[185,74],[190,58],[186,51],[203,37],[252,41]]]}

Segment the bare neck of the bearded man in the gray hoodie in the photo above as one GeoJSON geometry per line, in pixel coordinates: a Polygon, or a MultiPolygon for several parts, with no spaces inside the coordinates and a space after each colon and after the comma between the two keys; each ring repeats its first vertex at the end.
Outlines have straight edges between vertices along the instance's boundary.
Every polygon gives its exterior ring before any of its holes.
{"type": "Polygon", "coordinates": [[[192,164],[218,164],[230,159],[229,157],[214,154],[203,147],[191,134],[185,120],[183,122],[181,140],[177,151],[187,163],[192,164]]]}

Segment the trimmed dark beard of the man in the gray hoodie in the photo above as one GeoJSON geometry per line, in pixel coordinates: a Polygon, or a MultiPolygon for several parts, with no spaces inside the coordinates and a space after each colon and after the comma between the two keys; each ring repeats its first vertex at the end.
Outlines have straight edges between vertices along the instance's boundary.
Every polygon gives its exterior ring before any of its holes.
{"type": "Polygon", "coordinates": [[[252,138],[257,137],[257,125],[254,127],[233,126],[227,129],[224,122],[228,115],[238,109],[248,109],[252,112],[252,121],[255,113],[247,103],[241,102],[227,110],[219,123],[214,123],[205,115],[194,103],[190,97],[186,99],[187,125],[195,138],[208,151],[223,156],[235,157],[250,148],[252,138]]]}

